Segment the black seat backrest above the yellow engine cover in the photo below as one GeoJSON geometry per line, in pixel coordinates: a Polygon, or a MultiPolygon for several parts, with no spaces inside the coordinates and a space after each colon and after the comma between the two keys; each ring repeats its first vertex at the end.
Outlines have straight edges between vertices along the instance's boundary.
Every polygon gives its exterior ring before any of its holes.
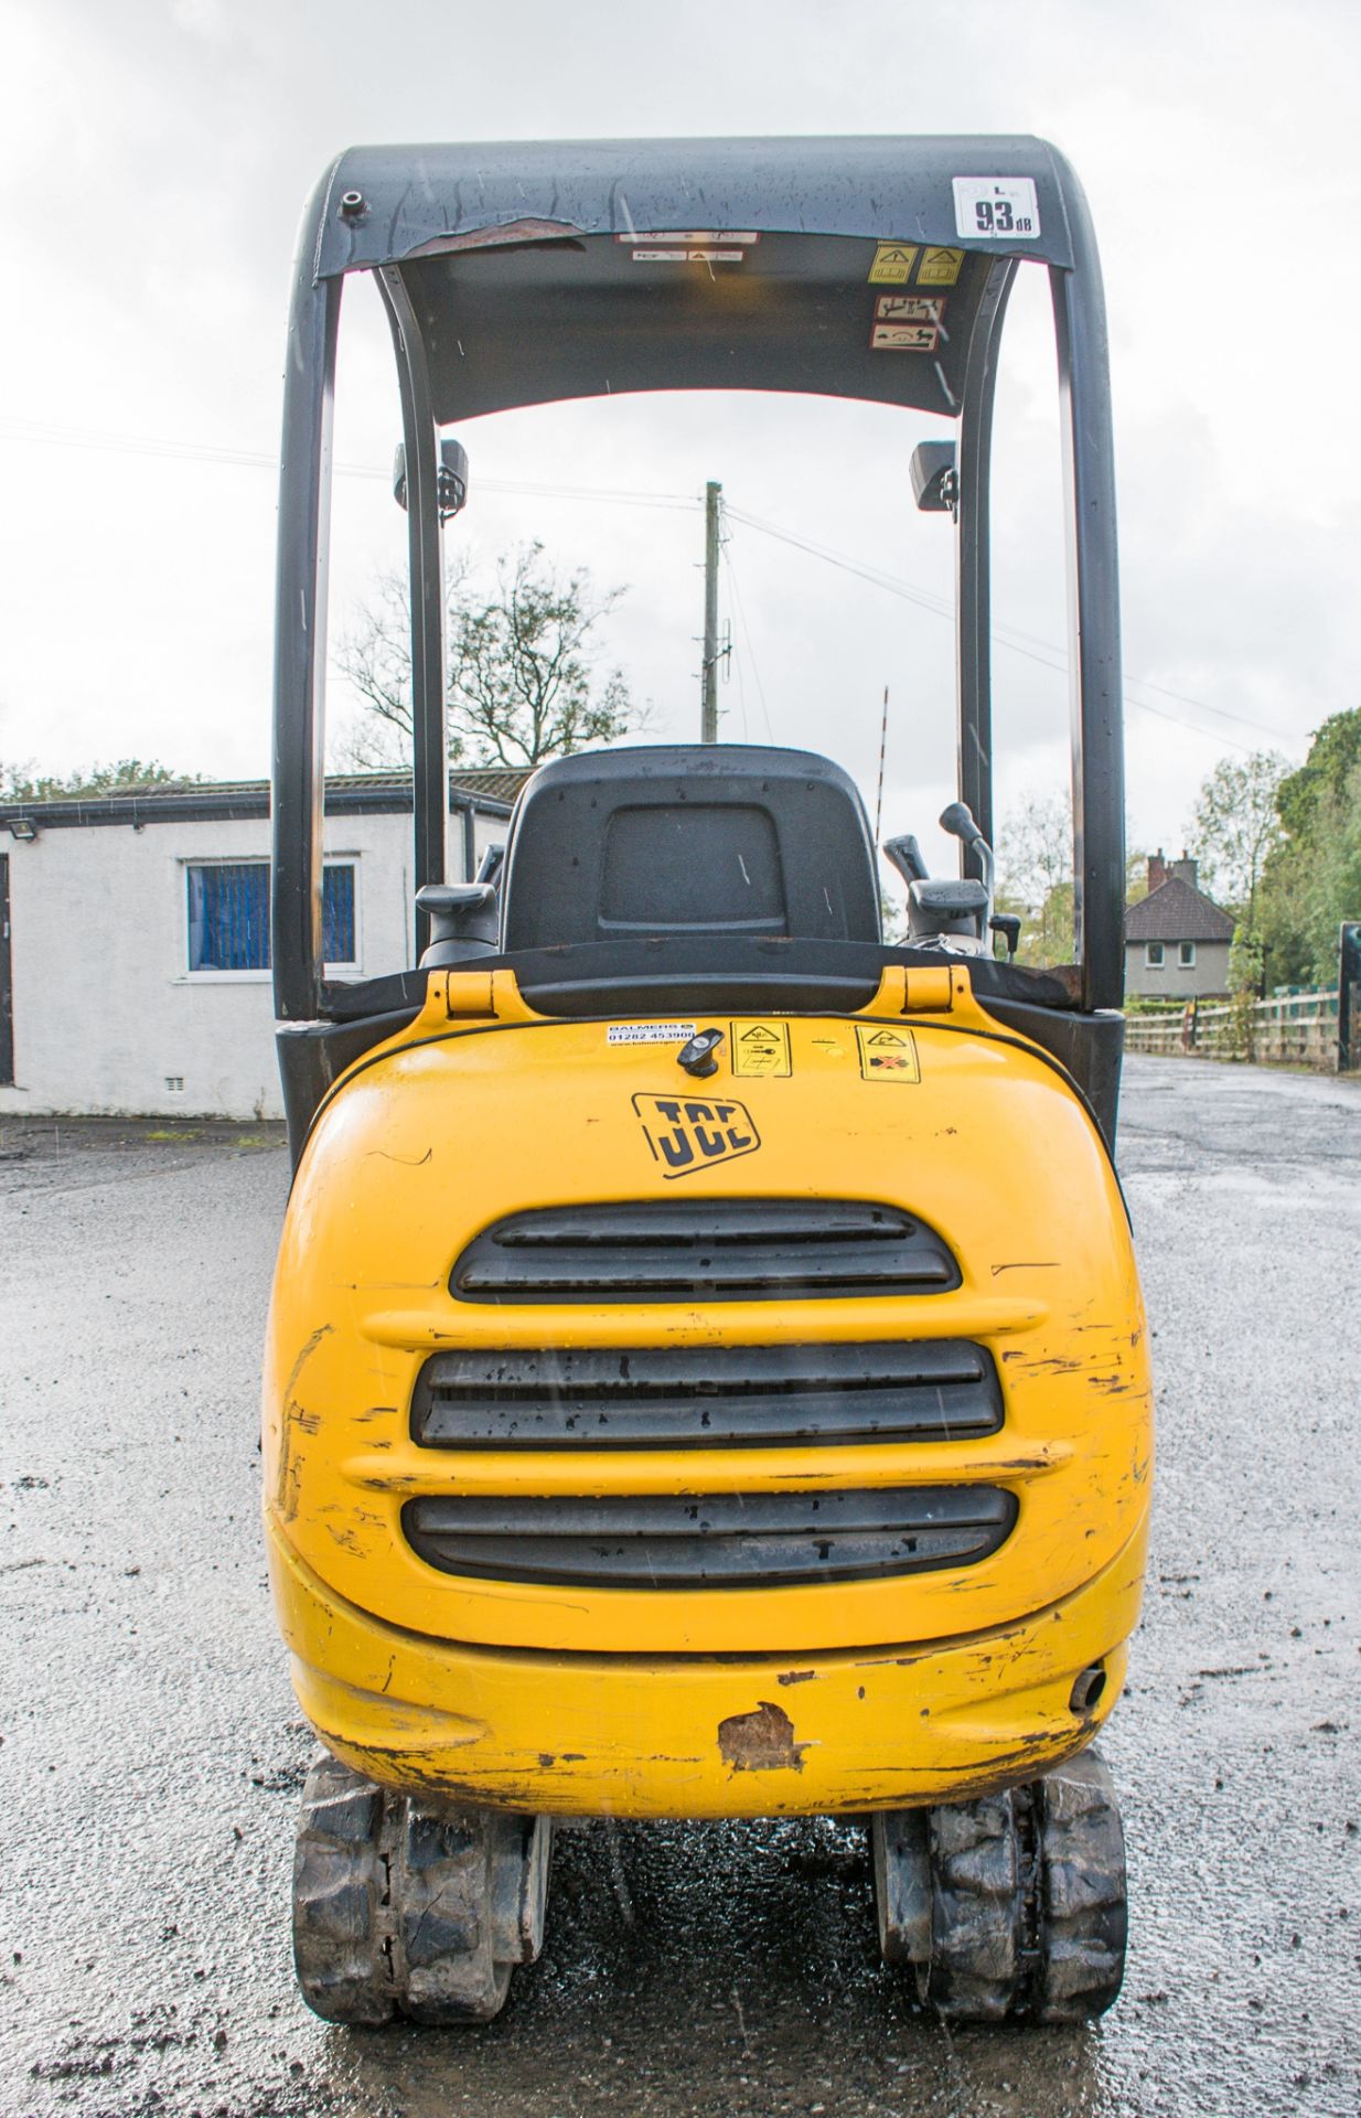
{"type": "Polygon", "coordinates": [[[502,949],[667,936],[878,943],[855,782],[809,750],[671,743],[542,765],[502,870],[502,949]]]}

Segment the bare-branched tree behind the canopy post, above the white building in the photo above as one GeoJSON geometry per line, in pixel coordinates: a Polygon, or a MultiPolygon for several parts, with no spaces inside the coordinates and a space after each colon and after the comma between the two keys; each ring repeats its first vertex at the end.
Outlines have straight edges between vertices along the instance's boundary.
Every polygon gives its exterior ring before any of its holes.
{"type": "MultiPolygon", "coordinates": [[[[620,669],[599,674],[595,633],[622,589],[561,574],[542,544],[502,555],[495,591],[478,595],[468,563],[449,580],[449,756],[461,765],[540,765],[641,724],[620,669]]],[[[406,582],[379,580],[377,599],[337,661],[364,699],[347,762],[370,769],[411,756],[406,582]]]]}

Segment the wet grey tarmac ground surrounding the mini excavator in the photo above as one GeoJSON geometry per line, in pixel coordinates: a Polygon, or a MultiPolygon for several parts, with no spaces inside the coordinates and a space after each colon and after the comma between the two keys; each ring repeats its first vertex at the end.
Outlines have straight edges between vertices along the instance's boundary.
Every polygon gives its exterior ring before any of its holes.
{"type": "Polygon", "coordinates": [[[0,1125],[2,2118],[1355,2118],[1361,1084],[1128,1067],[1160,1487],[1105,1737],[1130,1968],[1090,2031],[917,2014],[832,1821],[563,1834],[500,2023],[309,2016],[256,1529],[286,1161],[148,1131],[0,1125]]]}

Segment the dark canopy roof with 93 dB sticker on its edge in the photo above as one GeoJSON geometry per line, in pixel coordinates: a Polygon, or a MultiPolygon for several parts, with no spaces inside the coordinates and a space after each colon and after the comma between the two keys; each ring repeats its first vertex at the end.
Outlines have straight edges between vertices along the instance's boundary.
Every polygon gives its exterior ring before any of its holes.
{"type": "Polygon", "coordinates": [[[952,417],[993,261],[1071,267],[1073,191],[1029,138],[353,148],[313,267],[400,273],[440,424],[627,390],[952,417]]]}

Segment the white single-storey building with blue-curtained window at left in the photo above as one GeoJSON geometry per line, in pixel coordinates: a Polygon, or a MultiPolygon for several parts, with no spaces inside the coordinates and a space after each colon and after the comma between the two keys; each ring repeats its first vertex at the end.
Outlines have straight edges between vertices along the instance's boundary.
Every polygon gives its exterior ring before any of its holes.
{"type": "MultiPolygon", "coordinates": [[[[506,837],[527,773],[451,775],[447,875],[506,837]]],[[[406,970],[411,777],[326,784],[337,979],[406,970]]],[[[0,1114],[279,1118],[269,788],[0,807],[0,1114]]]]}

